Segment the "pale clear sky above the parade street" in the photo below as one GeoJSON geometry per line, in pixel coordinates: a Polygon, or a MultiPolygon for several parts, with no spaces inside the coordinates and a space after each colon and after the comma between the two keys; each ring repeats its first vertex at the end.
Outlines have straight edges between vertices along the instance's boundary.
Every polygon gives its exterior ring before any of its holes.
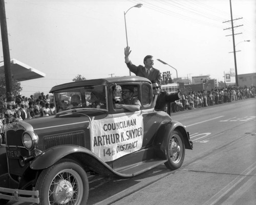
{"type": "MultiPolygon", "coordinates": [[[[22,81],[22,95],[48,94],[77,75],[86,79],[127,76],[130,59],[142,64],[154,56],[160,72],[178,77],[210,75],[224,81],[234,69],[229,0],[5,0],[10,57],[46,74],[22,81]]],[[[239,74],[256,72],[256,4],[232,0],[239,74]],[[243,26],[240,26],[243,25],[243,26]],[[245,40],[250,40],[249,42],[245,40]]],[[[0,61],[3,51],[0,50],[0,61]]],[[[134,75],[134,74],[132,74],[134,75]]]]}

